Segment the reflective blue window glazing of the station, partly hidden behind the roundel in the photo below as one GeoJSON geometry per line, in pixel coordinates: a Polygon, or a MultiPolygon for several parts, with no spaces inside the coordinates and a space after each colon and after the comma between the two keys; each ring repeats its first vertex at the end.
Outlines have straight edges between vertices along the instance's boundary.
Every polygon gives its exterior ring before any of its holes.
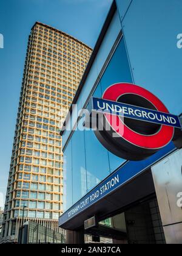
{"type": "MultiPolygon", "coordinates": [[[[93,96],[101,98],[109,85],[121,81],[132,83],[124,38],[116,47],[93,96]]],[[[64,151],[64,210],[125,162],[107,151],[92,130],[84,129],[83,119],[79,121],[78,127],[64,151]]]]}

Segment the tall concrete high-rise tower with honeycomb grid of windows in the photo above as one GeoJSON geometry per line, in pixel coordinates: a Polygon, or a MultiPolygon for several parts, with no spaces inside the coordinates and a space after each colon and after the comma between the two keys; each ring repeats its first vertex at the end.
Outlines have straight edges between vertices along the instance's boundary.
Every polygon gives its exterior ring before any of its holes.
{"type": "Polygon", "coordinates": [[[32,28],[5,198],[4,241],[17,241],[23,213],[24,221],[59,229],[59,132],[91,53],[89,46],[53,27],[36,22],[32,28]]]}

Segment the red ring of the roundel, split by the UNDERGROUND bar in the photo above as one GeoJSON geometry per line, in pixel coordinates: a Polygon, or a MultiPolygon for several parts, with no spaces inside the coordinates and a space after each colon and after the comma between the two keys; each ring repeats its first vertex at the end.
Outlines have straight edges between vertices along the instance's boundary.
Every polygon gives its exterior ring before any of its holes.
{"type": "MultiPolygon", "coordinates": [[[[124,94],[136,94],[145,98],[147,101],[151,102],[158,111],[169,113],[163,102],[160,101],[155,95],[147,91],[146,89],[134,85],[134,84],[114,84],[111,85],[103,94],[103,99],[107,99],[110,101],[117,101],[120,96],[124,94]]],[[[104,114],[106,116],[107,121],[110,124],[111,114],[104,114]]],[[[139,134],[129,127],[127,127],[123,121],[119,118],[119,116],[112,116],[112,126],[113,130],[117,130],[118,126],[116,127],[115,124],[119,124],[119,126],[124,125],[124,132],[118,131],[118,134],[129,143],[134,144],[140,148],[146,149],[160,149],[166,146],[174,137],[174,127],[162,125],[161,129],[153,134],[153,135],[142,135],[139,134]]]]}

